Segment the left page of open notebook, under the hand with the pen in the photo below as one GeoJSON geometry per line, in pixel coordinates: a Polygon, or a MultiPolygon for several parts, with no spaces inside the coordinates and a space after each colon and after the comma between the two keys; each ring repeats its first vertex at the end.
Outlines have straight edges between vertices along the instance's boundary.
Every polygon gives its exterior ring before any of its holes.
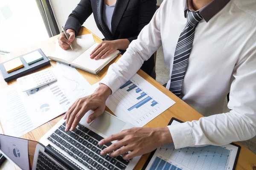
{"type": "Polygon", "coordinates": [[[79,57],[84,51],[90,48],[94,44],[93,36],[88,39],[75,38],[72,42],[74,51],[69,48],[67,50],[62,49],[58,41],[55,42],[55,51],[49,55],[49,57],[54,57],[56,60],[66,61],[68,63],[72,62],[74,59],[79,57]]]}

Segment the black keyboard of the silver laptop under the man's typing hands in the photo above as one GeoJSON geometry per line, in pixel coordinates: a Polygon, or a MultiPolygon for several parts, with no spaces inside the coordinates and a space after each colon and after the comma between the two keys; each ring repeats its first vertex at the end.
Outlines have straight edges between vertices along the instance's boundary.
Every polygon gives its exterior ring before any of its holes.
{"type": "Polygon", "coordinates": [[[78,125],[73,131],[65,132],[64,122],[47,139],[68,153],[89,170],[125,170],[129,160],[122,159],[122,156],[111,158],[108,155],[102,156],[100,152],[112,143],[99,146],[98,142],[104,139],[83,125],[78,125]]]}

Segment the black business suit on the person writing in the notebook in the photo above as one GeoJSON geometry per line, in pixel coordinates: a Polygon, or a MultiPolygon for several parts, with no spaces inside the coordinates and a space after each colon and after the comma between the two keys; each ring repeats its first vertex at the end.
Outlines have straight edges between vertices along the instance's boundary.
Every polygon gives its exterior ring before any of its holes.
{"type": "MultiPolygon", "coordinates": [[[[95,22],[105,40],[137,39],[142,28],[147,25],[156,11],[157,0],[116,0],[111,27],[112,33],[102,18],[104,0],[81,0],[69,15],[65,28],[79,31],[84,21],[93,13],[95,22]]],[[[124,51],[123,51],[124,52],[124,51]]],[[[141,69],[151,75],[154,55],[144,62],[141,69]]]]}

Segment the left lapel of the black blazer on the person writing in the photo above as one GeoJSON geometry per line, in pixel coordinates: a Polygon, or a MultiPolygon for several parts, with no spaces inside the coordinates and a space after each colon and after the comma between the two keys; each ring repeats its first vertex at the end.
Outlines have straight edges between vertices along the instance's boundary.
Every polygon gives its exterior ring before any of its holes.
{"type": "MultiPolygon", "coordinates": [[[[108,37],[113,37],[113,35],[108,29],[108,26],[106,26],[106,24],[102,19],[103,5],[104,5],[103,3],[104,3],[104,0],[97,0],[97,13],[98,13],[99,25],[102,27],[102,30],[105,32],[105,34],[108,35],[108,37]]],[[[105,38],[108,38],[108,37],[105,37],[105,38]]]]}

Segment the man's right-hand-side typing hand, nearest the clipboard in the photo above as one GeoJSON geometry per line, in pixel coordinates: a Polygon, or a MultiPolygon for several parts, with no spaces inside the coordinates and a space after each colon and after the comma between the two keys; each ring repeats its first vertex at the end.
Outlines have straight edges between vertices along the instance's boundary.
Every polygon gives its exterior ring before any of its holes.
{"type": "Polygon", "coordinates": [[[118,140],[118,142],[111,144],[111,146],[102,150],[100,154],[109,153],[111,157],[123,155],[123,159],[128,160],[135,156],[149,153],[163,144],[173,142],[168,127],[136,127],[102,139],[99,145],[115,140],[118,140]],[[131,151],[131,153],[126,154],[128,151],[131,151]]]}

